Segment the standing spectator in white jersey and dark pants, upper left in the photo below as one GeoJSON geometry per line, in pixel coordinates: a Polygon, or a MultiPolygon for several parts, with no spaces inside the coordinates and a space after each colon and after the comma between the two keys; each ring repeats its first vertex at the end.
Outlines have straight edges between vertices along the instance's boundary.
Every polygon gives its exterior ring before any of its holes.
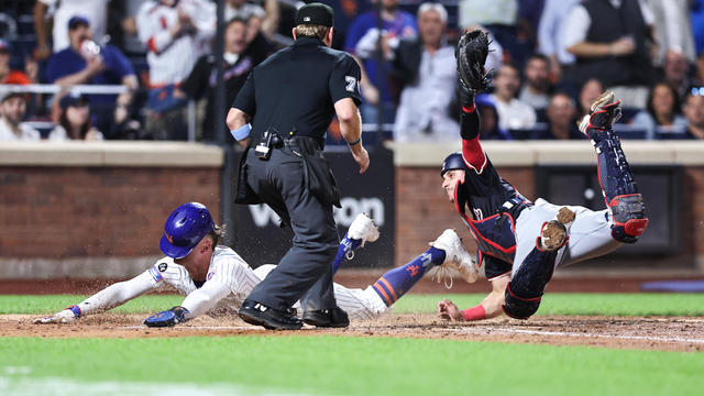
{"type": "Polygon", "coordinates": [[[151,110],[147,129],[157,138],[185,140],[186,100],[174,90],[210,52],[216,32],[215,4],[205,0],[150,0],[140,8],[136,26],[147,47],[151,110]]]}

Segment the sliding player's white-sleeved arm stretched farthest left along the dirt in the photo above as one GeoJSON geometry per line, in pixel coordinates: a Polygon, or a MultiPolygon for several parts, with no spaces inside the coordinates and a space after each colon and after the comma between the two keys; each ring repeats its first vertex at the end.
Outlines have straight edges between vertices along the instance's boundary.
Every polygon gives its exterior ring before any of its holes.
{"type": "Polygon", "coordinates": [[[67,323],[81,316],[107,311],[150,292],[162,283],[163,280],[154,284],[152,275],[145,271],[130,280],[106,287],[78,305],[70,306],[51,317],[36,319],[34,323],[67,323]]]}

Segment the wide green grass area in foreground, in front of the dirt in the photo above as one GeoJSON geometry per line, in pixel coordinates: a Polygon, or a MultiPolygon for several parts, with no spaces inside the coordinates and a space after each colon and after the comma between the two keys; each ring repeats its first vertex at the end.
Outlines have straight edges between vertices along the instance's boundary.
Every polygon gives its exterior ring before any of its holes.
{"type": "Polygon", "coordinates": [[[144,383],[135,394],[154,393],[154,383],[196,384],[201,394],[208,386],[219,387],[212,394],[433,396],[698,395],[704,388],[701,353],[330,336],[4,338],[0,351],[6,395],[32,394],[47,378],[63,378],[64,391],[79,383],[74,394],[85,395],[100,393],[89,386],[97,382],[121,383],[116,394],[130,394],[128,381],[144,383]],[[24,374],[9,375],[7,367],[25,367],[24,374]]]}

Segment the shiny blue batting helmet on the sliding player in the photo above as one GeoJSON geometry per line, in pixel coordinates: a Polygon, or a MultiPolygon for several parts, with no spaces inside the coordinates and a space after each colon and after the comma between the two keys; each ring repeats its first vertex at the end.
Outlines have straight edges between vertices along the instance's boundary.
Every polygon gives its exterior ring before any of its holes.
{"type": "Polygon", "coordinates": [[[205,205],[184,204],[166,219],[158,248],[172,258],[183,258],[215,228],[210,211],[205,205]]]}

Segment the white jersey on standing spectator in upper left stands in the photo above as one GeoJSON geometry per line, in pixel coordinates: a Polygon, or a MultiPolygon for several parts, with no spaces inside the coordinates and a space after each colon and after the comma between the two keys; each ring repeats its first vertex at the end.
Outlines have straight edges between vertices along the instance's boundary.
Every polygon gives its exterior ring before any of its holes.
{"type": "Polygon", "coordinates": [[[177,84],[190,74],[198,57],[210,51],[216,31],[215,4],[202,0],[182,0],[177,7],[146,1],[136,15],[140,41],[148,50],[150,84],[177,84]],[[178,23],[178,12],[189,15],[194,30],[172,36],[169,29],[178,23]]]}

